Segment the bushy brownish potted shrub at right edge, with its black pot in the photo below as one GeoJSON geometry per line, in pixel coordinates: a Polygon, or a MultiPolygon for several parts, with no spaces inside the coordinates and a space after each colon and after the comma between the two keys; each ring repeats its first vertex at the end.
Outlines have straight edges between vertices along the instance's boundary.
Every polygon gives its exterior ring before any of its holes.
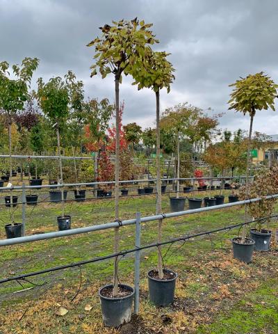
{"type": "MultiPolygon", "coordinates": [[[[278,166],[263,168],[252,184],[250,184],[250,198],[263,198],[259,202],[247,204],[247,212],[256,222],[255,228],[250,230],[250,237],[255,241],[254,249],[267,251],[270,249],[272,231],[269,228],[270,216],[275,209],[276,198],[264,199],[278,192],[278,166]]],[[[240,188],[240,200],[245,198],[246,185],[240,188]]]]}

